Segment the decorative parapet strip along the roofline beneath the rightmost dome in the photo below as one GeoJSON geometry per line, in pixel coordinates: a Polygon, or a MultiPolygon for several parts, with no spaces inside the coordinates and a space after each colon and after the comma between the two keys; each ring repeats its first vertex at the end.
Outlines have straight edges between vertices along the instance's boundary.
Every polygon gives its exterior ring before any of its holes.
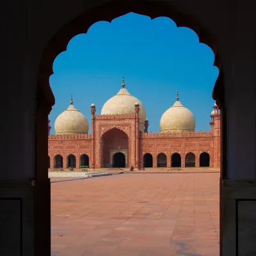
{"type": "Polygon", "coordinates": [[[188,137],[212,137],[213,132],[142,132],[141,138],[188,138],[188,137]]]}

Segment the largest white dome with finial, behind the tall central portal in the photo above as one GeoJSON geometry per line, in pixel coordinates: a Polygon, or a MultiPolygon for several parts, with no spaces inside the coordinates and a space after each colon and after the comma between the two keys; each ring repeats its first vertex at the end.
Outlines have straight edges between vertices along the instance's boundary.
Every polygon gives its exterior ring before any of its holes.
{"type": "Polygon", "coordinates": [[[146,111],[141,103],[136,97],[132,96],[124,87],[124,78],[122,83],[123,88],[110,98],[103,105],[101,109],[101,115],[115,115],[115,114],[132,114],[134,113],[134,105],[136,103],[140,104],[139,121],[140,121],[140,131],[145,129],[146,111]]]}

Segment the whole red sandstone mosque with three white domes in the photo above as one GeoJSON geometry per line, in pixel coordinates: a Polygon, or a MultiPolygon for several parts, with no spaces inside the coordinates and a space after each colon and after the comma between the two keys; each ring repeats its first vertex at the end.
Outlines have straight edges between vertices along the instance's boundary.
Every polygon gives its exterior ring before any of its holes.
{"type": "MultiPolygon", "coordinates": [[[[160,120],[161,132],[148,132],[143,104],[125,88],[95,115],[91,105],[92,134],[86,117],[70,106],[54,124],[48,125],[48,167],[83,168],[172,168],[220,166],[220,109],[214,104],[211,131],[195,132],[195,116],[184,107],[177,92],[173,106],[160,120]]],[[[49,120],[50,123],[50,120],[49,120]]]]}

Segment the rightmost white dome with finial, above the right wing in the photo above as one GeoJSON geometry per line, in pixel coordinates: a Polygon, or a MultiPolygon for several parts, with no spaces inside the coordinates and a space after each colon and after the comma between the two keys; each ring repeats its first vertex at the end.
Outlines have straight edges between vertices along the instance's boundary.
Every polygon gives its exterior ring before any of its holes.
{"type": "Polygon", "coordinates": [[[161,117],[161,132],[190,132],[195,131],[195,126],[195,116],[179,102],[177,93],[177,101],[161,117]]]}

